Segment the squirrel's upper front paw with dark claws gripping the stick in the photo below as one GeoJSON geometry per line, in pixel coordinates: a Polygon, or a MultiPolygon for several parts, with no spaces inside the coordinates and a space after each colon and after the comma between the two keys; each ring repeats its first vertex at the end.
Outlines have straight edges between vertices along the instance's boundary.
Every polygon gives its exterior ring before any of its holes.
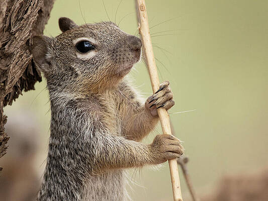
{"type": "Polygon", "coordinates": [[[157,116],[157,109],[164,108],[166,110],[174,106],[175,102],[172,99],[173,93],[168,87],[169,81],[164,81],[160,84],[159,89],[150,97],[147,98],[145,107],[152,116],[157,116]]]}

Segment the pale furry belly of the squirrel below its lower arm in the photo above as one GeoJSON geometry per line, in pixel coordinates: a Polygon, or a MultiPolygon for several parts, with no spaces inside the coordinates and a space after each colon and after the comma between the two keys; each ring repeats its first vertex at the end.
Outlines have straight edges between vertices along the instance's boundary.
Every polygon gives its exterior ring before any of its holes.
{"type": "Polygon", "coordinates": [[[125,201],[128,197],[124,170],[111,170],[86,182],[83,201],[125,201]]]}

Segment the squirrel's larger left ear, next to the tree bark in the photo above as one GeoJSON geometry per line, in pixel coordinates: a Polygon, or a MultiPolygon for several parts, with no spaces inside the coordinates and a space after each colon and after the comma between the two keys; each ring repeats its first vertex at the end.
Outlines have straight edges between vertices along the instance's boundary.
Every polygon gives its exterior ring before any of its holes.
{"type": "Polygon", "coordinates": [[[48,48],[50,47],[50,38],[47,36],[34,36],[33,45],[30,48],[31,53],[33,54],[34,62],[41,69],[45,68],[50,64],[46,54],[48,48]]]}

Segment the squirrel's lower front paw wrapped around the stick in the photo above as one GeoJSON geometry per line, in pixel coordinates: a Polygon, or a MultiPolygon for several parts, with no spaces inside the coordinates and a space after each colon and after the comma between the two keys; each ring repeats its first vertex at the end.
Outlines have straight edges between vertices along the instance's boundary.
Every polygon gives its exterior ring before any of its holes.
{"type": "Polygon", "coordinates": [[[157,135],[149,145],[152,164],[163,163],[169,159],[180,157],[184,153],[181,141],[172,135],[157,135]]]}

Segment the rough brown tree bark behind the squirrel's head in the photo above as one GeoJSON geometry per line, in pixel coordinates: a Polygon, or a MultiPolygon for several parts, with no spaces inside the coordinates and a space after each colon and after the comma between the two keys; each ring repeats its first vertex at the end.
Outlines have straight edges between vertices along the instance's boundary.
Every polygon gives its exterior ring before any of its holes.
{"type": "MultiPolygon", "coordinates": [[[[55,0],[2,0],[0,6],[0,158],[7,152],[7,116],[3,108],[12,105],[22,91],[41,81],[32,62],[32,37],[43,35],[55,0]]],[[[0,168],[1,171],[1,168],[0,168]]]]}

